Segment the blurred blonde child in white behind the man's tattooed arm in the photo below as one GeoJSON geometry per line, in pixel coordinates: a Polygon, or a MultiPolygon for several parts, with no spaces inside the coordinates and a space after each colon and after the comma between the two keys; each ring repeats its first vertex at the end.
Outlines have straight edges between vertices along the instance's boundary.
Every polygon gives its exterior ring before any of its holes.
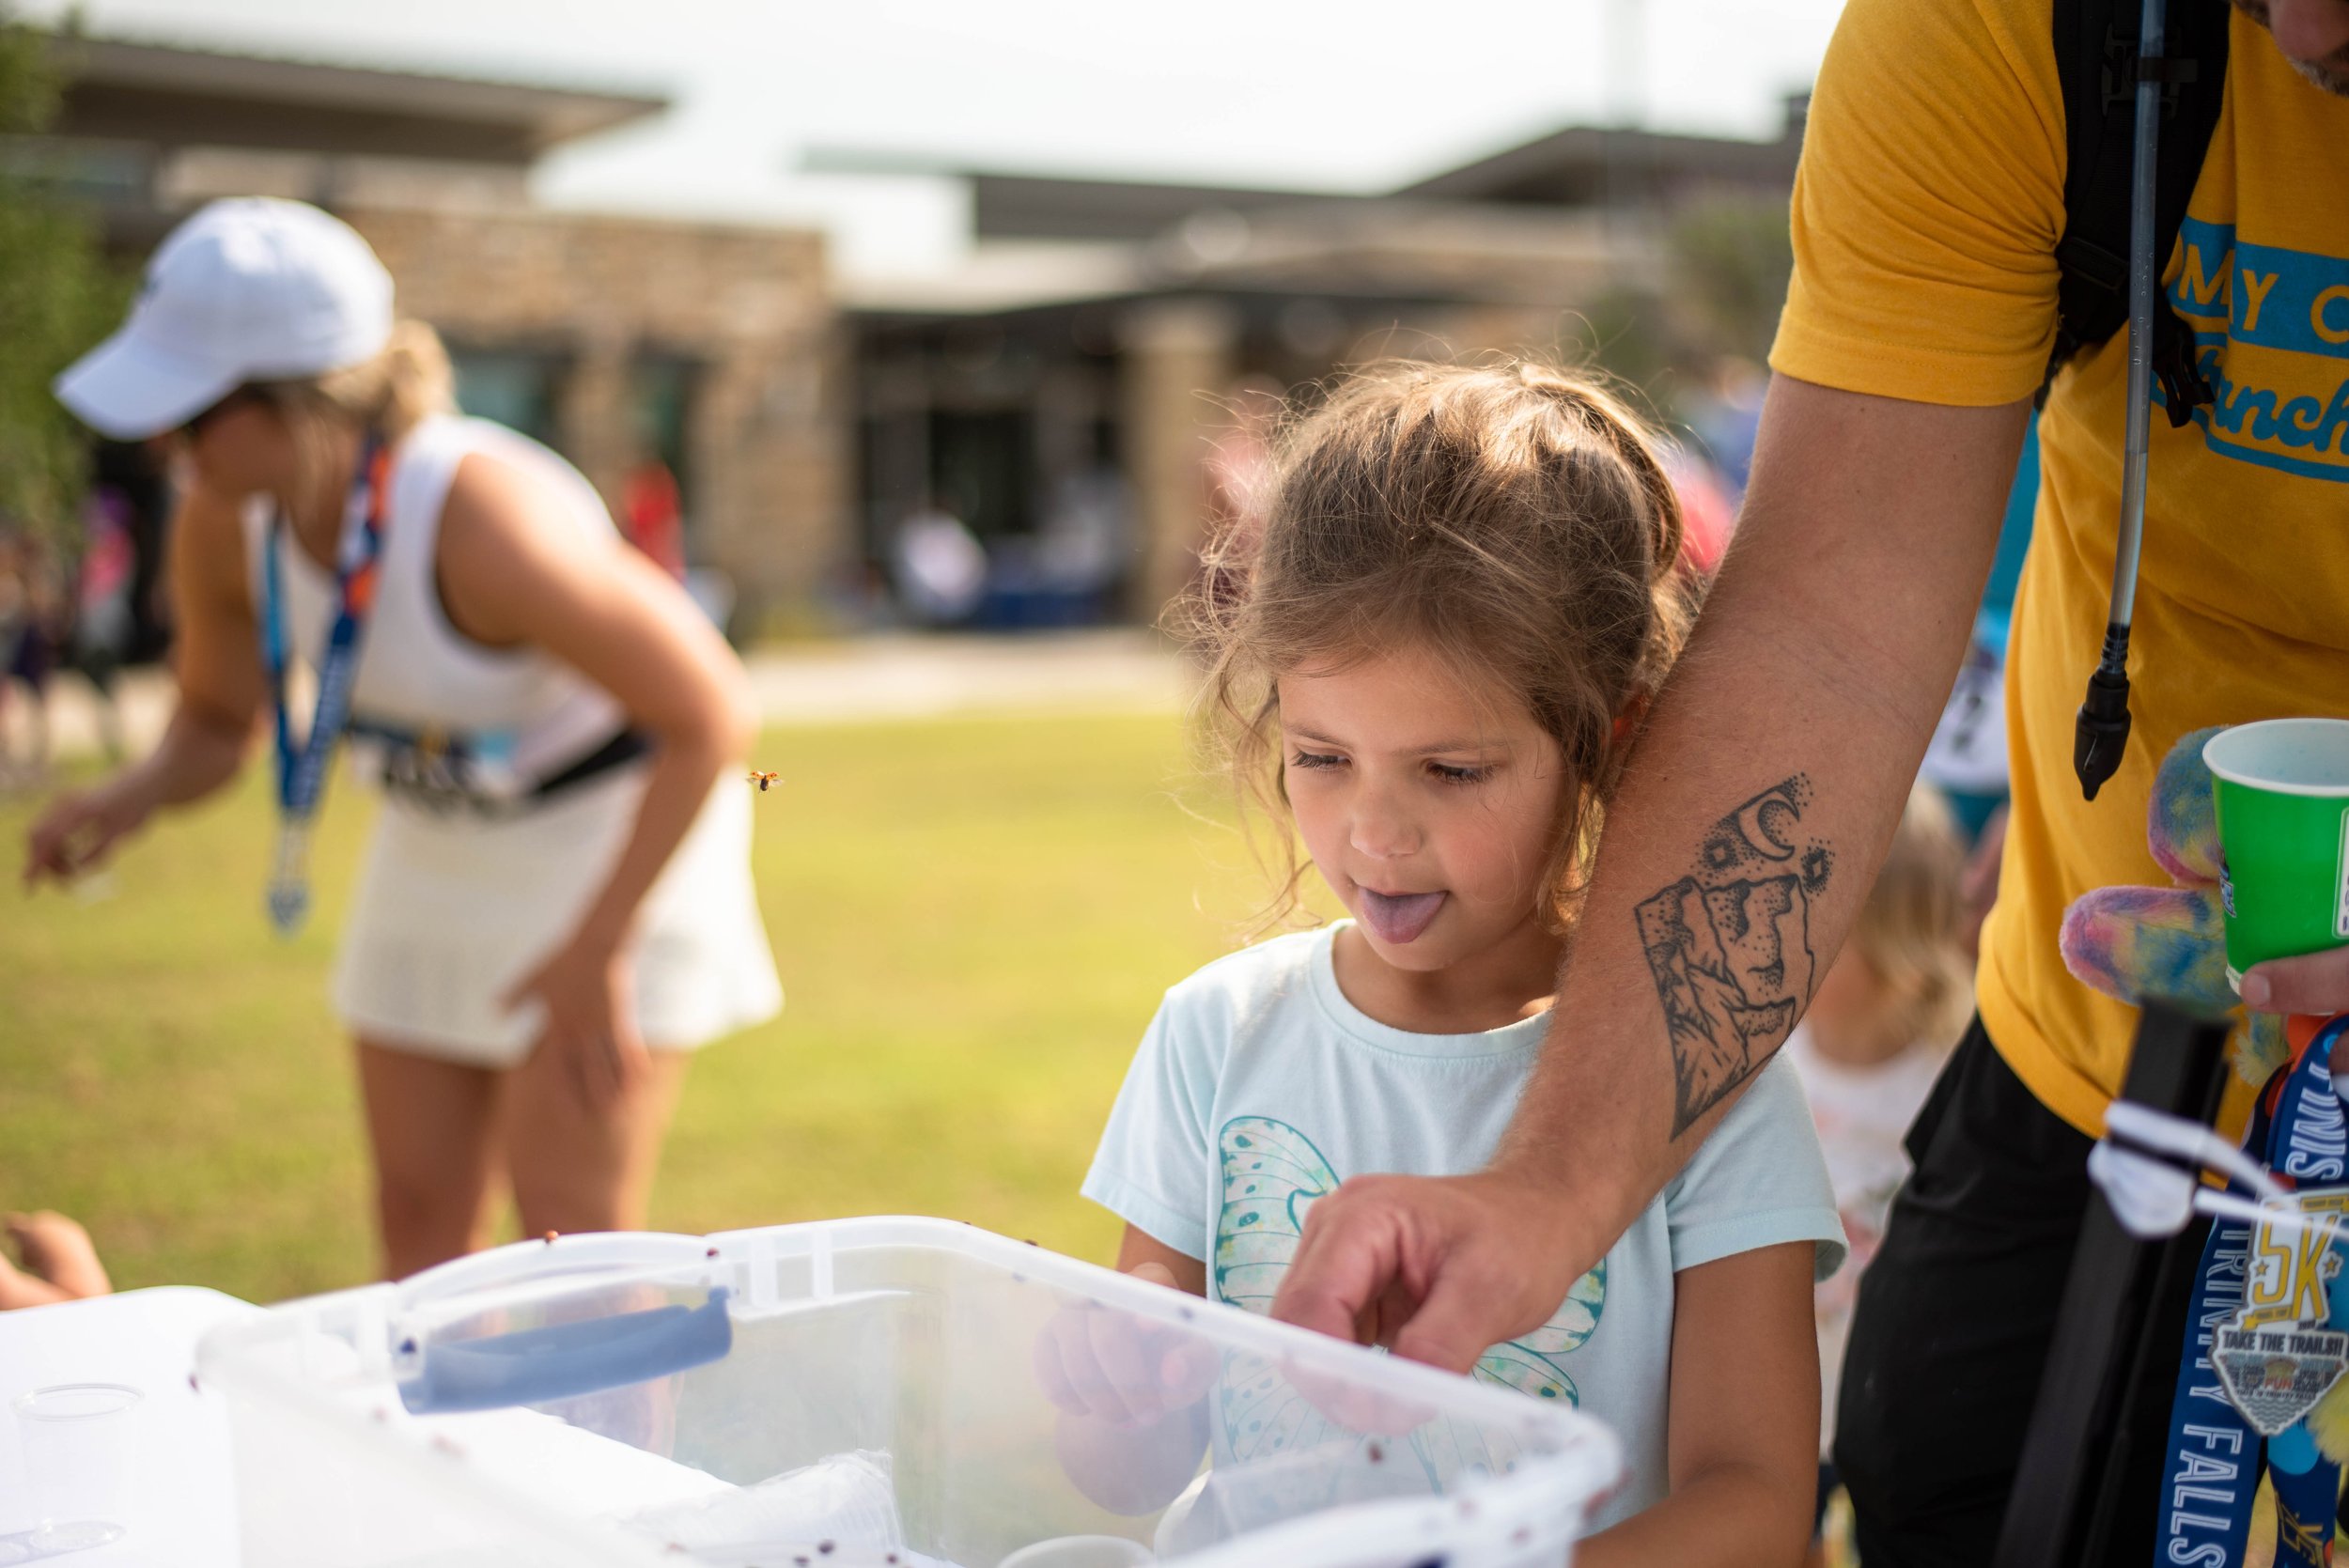
{"type": "Polygon", "coordinates": [[[1823,1279],[1816,1300],[1820,1516],[1835,1491],[1835,1467],[1825,1455],[1835,1444],[1835,1387],[1860,1270],[1875,1256],[1893,1192],[1910,1171],[1900,1141],[1973,1014],[1964,869],[1966,847],[1947,803],[1931,784],[1917,784],[1884,869],[1783,1052],[1811,1101],[1835,1207],[1851,1242],[1851,1268],[1823,1279]]]}

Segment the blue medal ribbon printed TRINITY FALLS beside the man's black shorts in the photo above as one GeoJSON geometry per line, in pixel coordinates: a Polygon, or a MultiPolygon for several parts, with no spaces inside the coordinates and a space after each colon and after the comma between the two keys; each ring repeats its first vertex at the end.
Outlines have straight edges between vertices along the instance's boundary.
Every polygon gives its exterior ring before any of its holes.
{"type": "MultiPolygon", "coordinates": [[[[2349,1019],[2335,1019],[2295,1061],[2279,1068],[2260,1091],[2243,1148],[2260,1157],[2286,1188],[2300,1183],[2340,1183],[2349,1176],[2342,1155],[2342,1103],[2333,1094],[2333,1047],[2349,1030],[2349,1019]]],[[[2304,1422],[2262,1439],[2250,1420],[2227,1397],[2213,1361],[2220,1329],[2243,1312],[2253,1275],[2255,1242],[2260,1263],[2274,1263],[2274,1246],[2300,1253],[2293,1230],[2262,1230],[2248,1221],[2217,1218],[2203,1244],[2194,1277],[2194,1300],[2187,1312],[2187,1343],[2170,1397],[2170,1446],[2161,1467],[2161,1528],[2154,1540],[2156,1568],[2234,1568],[2243,1561],[2250,1537],[2250,1505],[2267,1469],[2276,1486],[2276,1566],[2326,1568],[2333,1559],[2333,1507],[2340,1491],[2340,1465],[2316,1451],[2304,1422]],[[2281,1242],[2276,1242],[2281,1237],[2281,1242]]],[[[2326,1251],[2333,1244],[2326,1242],[2326,1251]]],[[[2318,1268],[2311,1263],[2309,1268],[2318,1268]]],[[[2349,1317],[2349,1277],[2323,1284],[2326,1322],[2302,1326],[2326,1329],[2349,1317]]]]}

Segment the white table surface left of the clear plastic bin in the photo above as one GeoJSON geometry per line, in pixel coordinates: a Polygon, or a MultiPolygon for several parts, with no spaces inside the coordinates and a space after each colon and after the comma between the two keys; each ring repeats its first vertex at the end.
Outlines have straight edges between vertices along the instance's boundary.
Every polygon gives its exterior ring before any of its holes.
{"type": "Polygon", "coordinates": [[[190,1387],[195,1343],[216,1324],[261,1307],[193,1286],[124,1291],[56,1307],[0,1312],[0,1545],[31,1530],[16,1418],[7,1404],[52,1383],[127,1383],[146,1399],[136,1422],[136,1495],[129,1533],[106,1547],[40,1563],[56,1568],[235,1568],[237,1498],[228,1469],[228,1415],[190,1387]]]}

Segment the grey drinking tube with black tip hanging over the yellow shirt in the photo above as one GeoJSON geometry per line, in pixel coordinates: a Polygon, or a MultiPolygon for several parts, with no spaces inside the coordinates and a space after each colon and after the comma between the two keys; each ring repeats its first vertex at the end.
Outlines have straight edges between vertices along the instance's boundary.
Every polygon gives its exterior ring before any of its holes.
{"type": "Polygon", "coordinates": [[[2154,171],[2161,138],[2161,59],[2166,0],[2145,0],[2138,21],[2138,141],[2128,169],[2128,437],[2121,448],[2121,528],[2112,549],[2112,613],[2105,653],[2088,676],[2088,697],[2072,730],[2072,772],[2095,791],[2121,765],[2128,746],[2128,622],[2138,613],[2138,552],[2145,545],[2145,444],[2154,413],[2154,171]]]}

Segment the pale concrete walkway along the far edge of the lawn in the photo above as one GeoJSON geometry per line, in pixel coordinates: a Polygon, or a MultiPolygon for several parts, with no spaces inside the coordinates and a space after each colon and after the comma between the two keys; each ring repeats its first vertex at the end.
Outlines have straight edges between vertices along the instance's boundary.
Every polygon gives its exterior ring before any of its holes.
{"type": "MultiPolygon", "coordinates": [[[[1177,714],[1193,671],[1167,646],[1135,629],[1036,636],[867,636],[839,643],[763,648],[749,655],[752,690],[770,725],[886,723],[949,714],[1177,714]]],[[[171,716],[171,676],[129,671],[120,683],[122,728],[146,751],[171,716]]],[[[9,685],[0,709],[0,784],[31,749],[31,704],[9,685]]],[[[56,758],[101,749],[89,683],[59,674],[49,685],[49,739],[56,758]]]]}

